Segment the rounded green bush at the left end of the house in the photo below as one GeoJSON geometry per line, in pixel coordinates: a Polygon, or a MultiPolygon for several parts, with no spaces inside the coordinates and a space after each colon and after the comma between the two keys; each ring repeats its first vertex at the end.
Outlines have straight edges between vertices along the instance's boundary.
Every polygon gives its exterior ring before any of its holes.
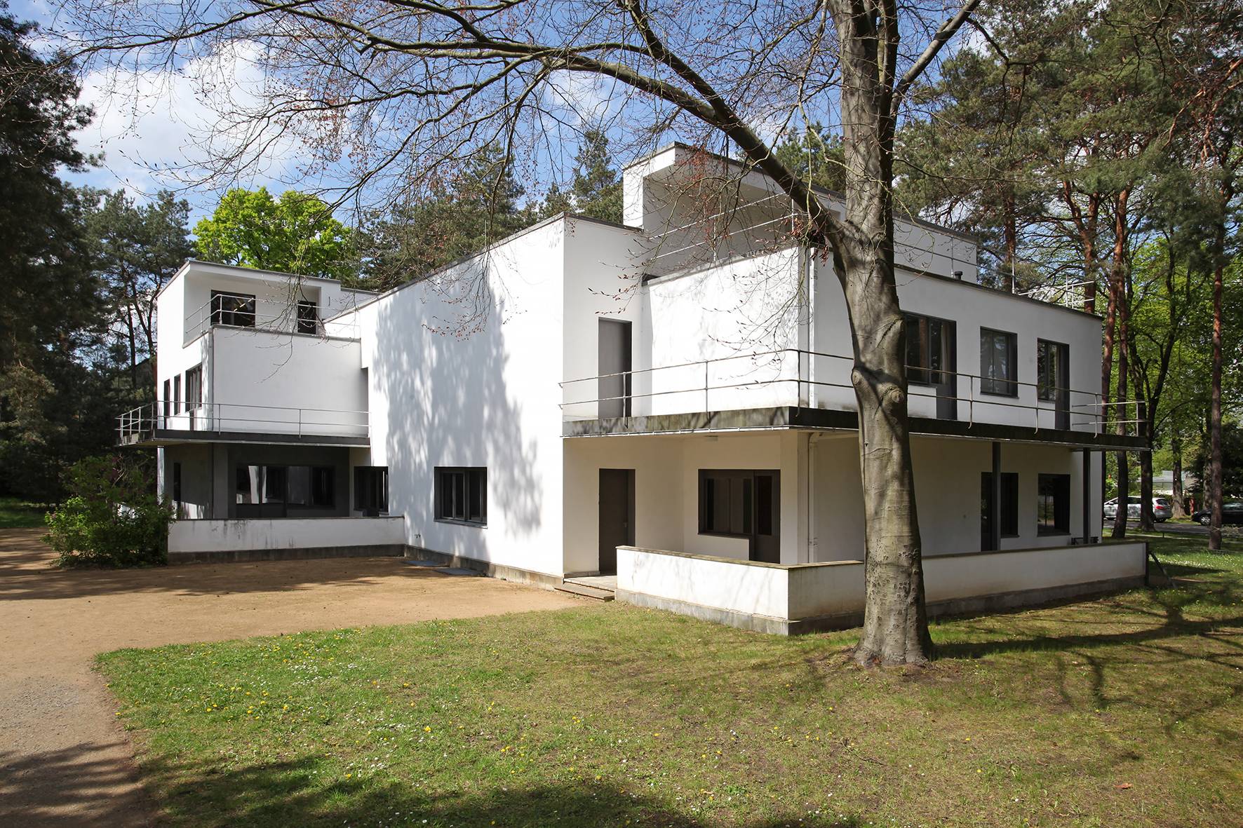
{"type": "Polygon", "coordinates": [[[87,458],[68,472],[70,497],[47,516],[44,540],[60,566],[135,567],[168,563],[173,508],[138,464],[87,458]]]}

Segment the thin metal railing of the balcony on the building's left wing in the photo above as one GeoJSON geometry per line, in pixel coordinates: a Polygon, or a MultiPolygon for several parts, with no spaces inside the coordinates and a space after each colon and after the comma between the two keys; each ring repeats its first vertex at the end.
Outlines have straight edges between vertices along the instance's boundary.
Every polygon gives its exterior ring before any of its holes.
{"type": "Polygon", "coordinates": [[[370,438],[367,412],[331,408],[255,405],[251,403],[178,403],[157,400],[117,416],[121,445],[163,431],[254,431],[297,436],[370,438]]]}

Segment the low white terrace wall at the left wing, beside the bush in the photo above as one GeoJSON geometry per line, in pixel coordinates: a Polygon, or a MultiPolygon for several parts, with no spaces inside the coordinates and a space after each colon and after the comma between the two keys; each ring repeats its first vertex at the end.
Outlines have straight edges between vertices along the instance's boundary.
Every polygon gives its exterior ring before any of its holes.
{"type": "Polygon", "coordinates": [[[169,552],[302,550],[405,543],[405,517],[307,517],[174,521],[169,552]]]}

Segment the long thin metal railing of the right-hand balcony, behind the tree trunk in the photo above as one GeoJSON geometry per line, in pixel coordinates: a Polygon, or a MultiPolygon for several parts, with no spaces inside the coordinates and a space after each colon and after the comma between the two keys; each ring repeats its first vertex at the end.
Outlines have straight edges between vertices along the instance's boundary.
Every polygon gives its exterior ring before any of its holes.
{"type": "MultiPolygon", "coordinates": [[[[599,419],[603,407],[617,409],[622,405],[630,408],[630,413],[640,415],[690,414],[762,405],[855,410],[854,385],[849,379],[853,366],[854,357],[844,354],[802,348],[777,348],[568,379],[558,383],[563,394],[562,418],[564,420],[599,419]],[[825,379],[823,375],[818,375],[815,363],[819,359],[837,361],[840,368],[834,364],[827,373],[833,374],[837,369],[844,377],[842,379],[825,379]],[[743,369],[736,372],[735,377],[722,378],[721,372],[716,369],[718,366],[740,361],[748,362],[750,366],[745,364],[743,369]],[[716,375],[713,375],[715,369],[716,375]],[[755,377],[755,374],[763,374],[766,370],[776,375],[755,377]],[[674,373],[692,374],[695,380],[661,382],[658,379],[674,373]],[[585,383],[595,383],[599,388],[602,380],[613,380],[607,384],[620,385],[626,390],[617,395],[597,397],[574,393],[585,383]],[[646,385],[646,390],[635,389],[636,385],[646,385]],[[764,389],[776,390],[764,393],[764,389]],[[822,390],[828,393],[822,394],[822,390]],[[636,405],[636,400],[646,404],[636,405]]],[[[1126,435],[1137,433],[1135,426],[1142,423],[1140,416],[1142,400],[1103,403],[1100,392],[1086,392],[1069,387],[1050,388],[1043,383],[1018,379],[1001,380],[967,372],[915,366],[909,366],[907,369],[921,372],[927,374],[930,379],[937,380],[931,384],[910,383],[907,385],[907,405],[914,415],[924,414],[937,419],[963,420],[968,424],[978,421],[1030,426],[1037,431],[1070,429],[1100,434],[1106,428],[1121,425],[1122,433],[1126,435]],[[962,388],[963,384],[966,388],[962,388]],[[1016,393],[1012,395],[984,390],[986,387],[996,388],[998,385],[1013,387],[1016,393]],[[946,409],[952,410],[952,415],[946,414],[946,409]],[[1109,416],[1106,416],[1106,412],[1109,416]]],[[[610,415],[619,414],[605,414],[604,416],[610,415]]]]}

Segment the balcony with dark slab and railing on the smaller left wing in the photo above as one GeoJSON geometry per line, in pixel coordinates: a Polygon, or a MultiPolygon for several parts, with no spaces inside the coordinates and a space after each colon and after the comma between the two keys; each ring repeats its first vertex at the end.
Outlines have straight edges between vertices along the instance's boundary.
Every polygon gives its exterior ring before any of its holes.
{"type": "Polygon", "coordinates": [[[194,408],[157,400],[117,418],[119,445],[172,443],[283,443],[301,445],[368,445],[367,412],[201,403],[194,408]]]}

